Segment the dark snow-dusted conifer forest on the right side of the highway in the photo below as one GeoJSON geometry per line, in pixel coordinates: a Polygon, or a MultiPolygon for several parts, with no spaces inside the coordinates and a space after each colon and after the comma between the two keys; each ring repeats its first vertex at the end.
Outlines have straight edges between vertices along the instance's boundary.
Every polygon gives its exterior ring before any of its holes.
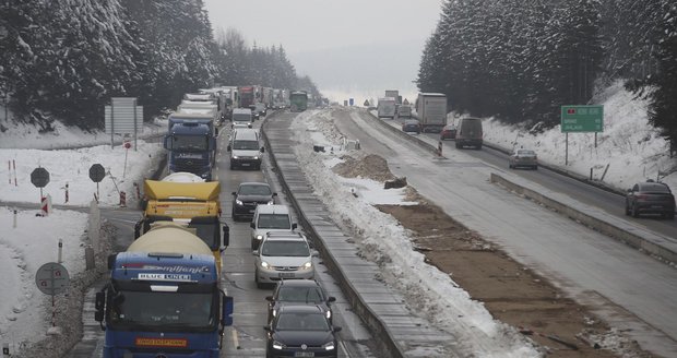
{"type": "Polygon", "coordinates": [[[458,112],[559,124],[617,79],[648,96],[677,143],[677,5],[670,0],[454,0],[421,55],[417,85],[458,112]]]}

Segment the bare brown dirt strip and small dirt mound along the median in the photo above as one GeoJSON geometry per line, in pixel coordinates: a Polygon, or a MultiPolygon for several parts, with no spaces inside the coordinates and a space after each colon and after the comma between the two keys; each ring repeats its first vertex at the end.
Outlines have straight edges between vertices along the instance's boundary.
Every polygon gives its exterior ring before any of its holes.
{"type": "MultiPolygon", "coordinates": [[[[395,179],[376,155],[346,156],[334,167],[344,177],[395,179]]],[[[377,205],[413,232],[425,260],[484,302],[495,319],[510,324],[547,351],[548,357],[653,357],[500,248],[448,216],[408,187],[418,205],[377,205]]]]}

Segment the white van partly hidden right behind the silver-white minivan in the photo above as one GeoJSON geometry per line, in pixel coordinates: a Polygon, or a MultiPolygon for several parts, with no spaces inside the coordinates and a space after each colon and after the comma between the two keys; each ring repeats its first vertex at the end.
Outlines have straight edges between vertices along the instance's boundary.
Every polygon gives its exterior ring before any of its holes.
{"type": "Polygon", "coordinates": [[[251,227],[251,249],[259,248],[266,232],[270,231],[293,231],[296,223],[292,223],[292,215],[287,205],[257,205],[253,218],[249,224],[251,227]]]}

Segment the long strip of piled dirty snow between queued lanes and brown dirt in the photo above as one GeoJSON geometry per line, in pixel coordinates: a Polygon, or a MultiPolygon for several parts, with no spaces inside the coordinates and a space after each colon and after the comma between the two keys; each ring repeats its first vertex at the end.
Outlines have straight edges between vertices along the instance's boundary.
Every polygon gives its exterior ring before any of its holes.
{"type": "MultiPolygon", "coordinates": [[[[468,356],[538,357],[539,353],[512,327],[494,320],[482,302],[458,287],[446,274],[424,262],[413,249],[407,231],[390,215],[361,196],[351,194],[352,182],[337,177],[325,163],[335,164],[341,151],[318,155],[313,143],[341,147],[341,135],[329,111],[306,111],[292,126],[296,156],[318,198],[333,220],[354,232],[359,252],[382,268],[382,279],[407,298],[415,312],[425,312],[433,325],[456,336],[468,356]]],[[[366,179],[363,179],[366,180],[366,179]]]]}

